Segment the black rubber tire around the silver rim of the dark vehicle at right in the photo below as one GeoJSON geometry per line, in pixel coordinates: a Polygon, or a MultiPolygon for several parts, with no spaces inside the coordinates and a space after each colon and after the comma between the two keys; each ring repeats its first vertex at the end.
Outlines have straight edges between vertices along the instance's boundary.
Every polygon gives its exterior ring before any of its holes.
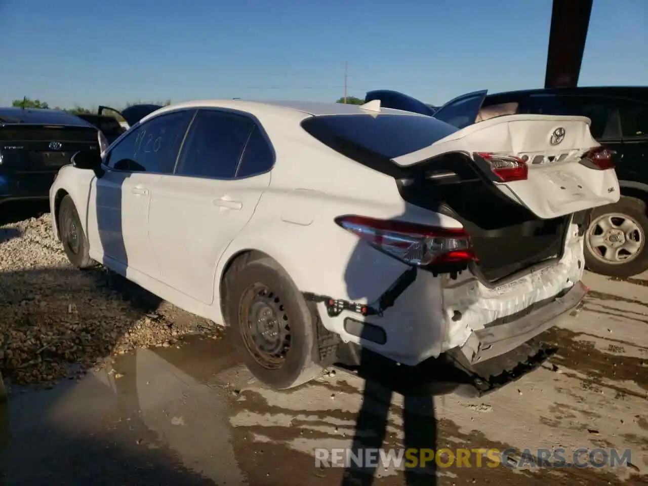
{"type": "MultiPolygon", "coordinates": [[[[623,218],[613,217],[615,224],[620,224],[623,218]]],[[[621,231],[623,233],[623,231],[621,231]]],[[[607,275],[609,277],[627,278],[638,273],[648,270],[648,244],[645,240],[648,235],[648,216],[646,216],[646,205],[642,200],[629,197],[621,197],[619,202],[608,204],[605,206],[597,207],[592,211],[592,218],[590,226],[585,233],[585,266],[592,272],[607,275]],[[632,239],[640,243],[640,249],[632,257],[627,257],[625,260],[617,263],[607,263],[601,260],[601,256],[605,255],[605,247],[596,246],[596,241],[592,241],[592,237],[600,233],[601,227],[597,224],[597,220],[605,214],[619,214],[631,222],[636,223],[638,231],[632,231],[632,239]],[[597,256],[598,255],[598,256],[597,256]]],[[[623,238],[628,238],[629,235],[625,234],[623,238]]]]}

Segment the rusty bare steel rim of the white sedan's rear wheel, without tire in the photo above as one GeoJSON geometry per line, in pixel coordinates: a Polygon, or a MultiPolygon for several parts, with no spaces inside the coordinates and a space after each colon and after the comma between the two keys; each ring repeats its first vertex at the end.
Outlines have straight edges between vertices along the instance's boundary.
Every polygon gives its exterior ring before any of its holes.
{"type": "Polygon", "coordinates": [[[249,286],[239,318],[244,344],[255,361],[266,369],[280,368],[290,349],[290,327],[279,295],[261,283],[249,286]]]}

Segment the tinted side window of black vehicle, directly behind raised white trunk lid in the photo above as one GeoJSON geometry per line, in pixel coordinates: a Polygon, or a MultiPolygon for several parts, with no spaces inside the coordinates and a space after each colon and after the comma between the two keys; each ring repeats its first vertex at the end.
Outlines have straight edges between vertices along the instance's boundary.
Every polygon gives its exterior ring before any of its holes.
{"type": "Polygon", "coordinates": [[[595,139],[607,135],[610,104],[605,98],[537,96],[531,97],[531,113],[538,115],[578,115],[592,120],[590,132],[595,139]]]}

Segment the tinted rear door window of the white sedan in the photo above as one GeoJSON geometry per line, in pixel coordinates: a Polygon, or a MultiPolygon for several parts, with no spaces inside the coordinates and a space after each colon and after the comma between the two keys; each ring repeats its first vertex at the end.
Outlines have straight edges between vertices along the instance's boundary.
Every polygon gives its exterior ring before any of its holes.
{"type": "Polygon", "coordinates": [[[234,178],[254,122],[225,111],[199,110],[180,154],[176,174],[234,178]]]}

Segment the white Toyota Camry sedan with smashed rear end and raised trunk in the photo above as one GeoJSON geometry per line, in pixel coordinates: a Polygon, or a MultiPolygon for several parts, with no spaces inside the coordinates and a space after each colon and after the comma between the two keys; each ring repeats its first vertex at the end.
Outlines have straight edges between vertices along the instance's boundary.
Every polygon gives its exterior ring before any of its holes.
{"type": "Polygon", "coordinates": [[[233,327],[275,388],[344,347],[477,364],[586,293],[589,210],[619,198],[589,126],[504,115],[458,130],[377,100],[175,104],[60,170],[54,231],[78,268],[233,327]]]}

